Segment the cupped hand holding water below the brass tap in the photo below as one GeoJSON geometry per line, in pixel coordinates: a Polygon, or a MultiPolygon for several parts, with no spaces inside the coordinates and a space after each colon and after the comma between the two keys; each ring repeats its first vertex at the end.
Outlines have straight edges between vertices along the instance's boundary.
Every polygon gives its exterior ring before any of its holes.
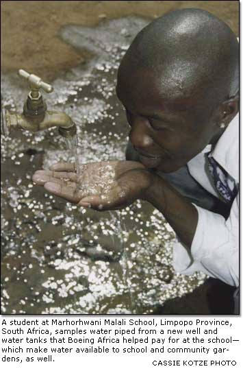
{"type": "Polygon", "coordinates": [[[121,209],[142,198],[151,173],[136,161],[102,161],[80,165],[57,163],[39,170],[32,180],[56,196],[99,211],[121,209]]]}

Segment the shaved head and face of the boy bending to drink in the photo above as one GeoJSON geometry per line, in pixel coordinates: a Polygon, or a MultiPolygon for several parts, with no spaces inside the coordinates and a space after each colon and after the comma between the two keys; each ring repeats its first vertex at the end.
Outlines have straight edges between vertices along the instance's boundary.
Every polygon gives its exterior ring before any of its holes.
{"type": "Polygon", "coordinates": [[[216,143],[238,112],[238,51],[231,29],[204,10],[176,10],[142,29],[116,88],[141,163],[176,171],[216,143]]]}

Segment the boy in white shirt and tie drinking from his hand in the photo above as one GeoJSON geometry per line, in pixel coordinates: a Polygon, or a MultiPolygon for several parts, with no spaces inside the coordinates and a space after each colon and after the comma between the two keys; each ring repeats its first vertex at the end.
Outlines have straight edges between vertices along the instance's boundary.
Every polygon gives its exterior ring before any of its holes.
{"type": "Polygon", "coordinates": [[[127,161],[85,165],[79,185],[90,180],[90,191],[77,189],[67,163],[37,171],[34,182],[97,210],[150,202],[177,234],[177,272],[238,287],[238,61],[237,38],[212,14],[183,9],[156,19],[118,69],[127,161]]]}

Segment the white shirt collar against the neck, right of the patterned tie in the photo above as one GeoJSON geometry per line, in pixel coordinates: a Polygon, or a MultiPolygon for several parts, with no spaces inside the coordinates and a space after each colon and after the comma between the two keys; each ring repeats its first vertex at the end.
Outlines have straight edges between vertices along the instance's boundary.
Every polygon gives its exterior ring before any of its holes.
{"type": "Polygon", "coordinates": [[[212,156],[236,182],[239,182],[239,114],[233,118],[225,132],[220,136],[210,156],[212,156]]]}

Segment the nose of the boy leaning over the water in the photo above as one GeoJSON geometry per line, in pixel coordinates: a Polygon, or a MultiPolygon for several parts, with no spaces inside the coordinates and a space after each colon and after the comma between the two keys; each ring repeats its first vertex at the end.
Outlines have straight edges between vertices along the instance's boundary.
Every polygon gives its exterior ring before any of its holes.
{"type": "Polygon", "coordinates": [[[153,139],[149,136],[149,128],[146,126],[144,119],[137,118],[133,120],[129,139],[133,147],[137,147],[138,149],[145,149],[153,145],[153,139]]]}

